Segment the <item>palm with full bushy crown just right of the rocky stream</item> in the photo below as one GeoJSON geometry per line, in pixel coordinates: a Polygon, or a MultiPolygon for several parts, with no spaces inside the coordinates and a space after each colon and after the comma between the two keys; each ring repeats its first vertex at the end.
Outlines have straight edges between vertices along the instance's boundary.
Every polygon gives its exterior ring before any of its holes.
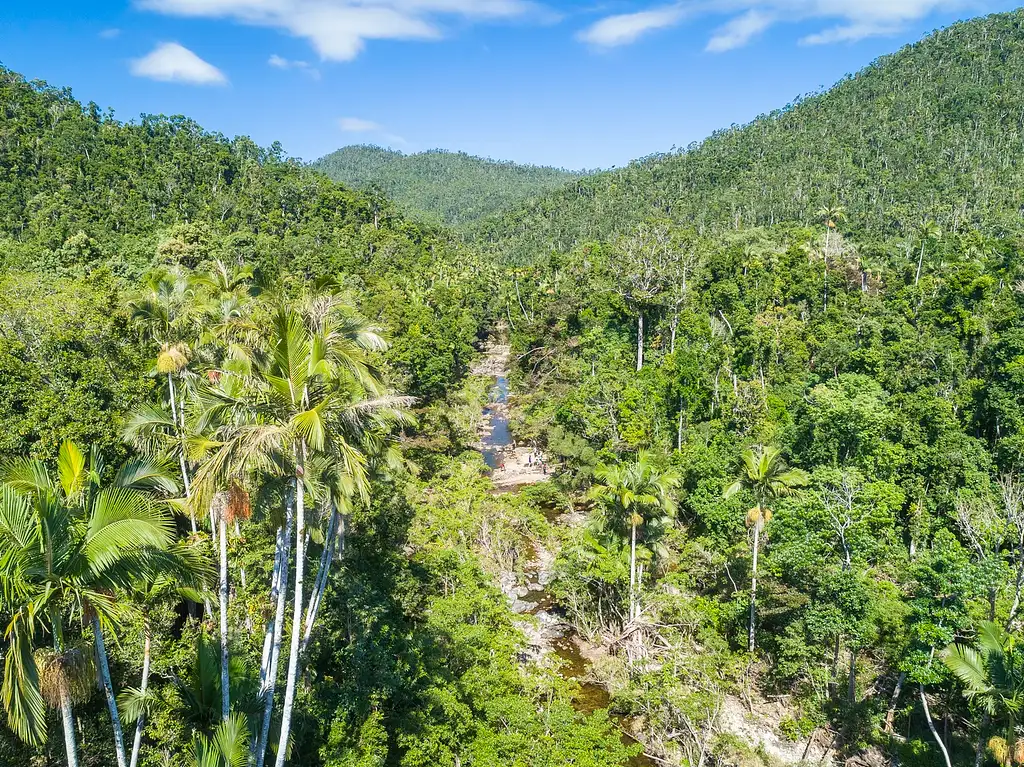
{"type": "Polygon", "coordinates": [[[606,526],[630,542],[630,621],[639,615],[637,594],[637,532],[655,517],[672,517],[676,513],[673,491],[679,485],[679,474],[673,469],[656,467],[653,454],[641,451],[631,464],[599,464],[594,470],[598,480],[590,488],[590,497],[599,502],[606,516],[606,526]]]}

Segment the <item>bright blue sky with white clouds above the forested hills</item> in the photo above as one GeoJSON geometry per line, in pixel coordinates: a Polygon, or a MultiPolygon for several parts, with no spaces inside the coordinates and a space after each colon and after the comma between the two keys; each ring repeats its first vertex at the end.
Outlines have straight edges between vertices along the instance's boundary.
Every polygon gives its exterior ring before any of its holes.
{"type": "Polygon", "coordinates": [[[827,86],[989,0],[2,0],[0,62],[121,119],[624,165],[827,86]]]}

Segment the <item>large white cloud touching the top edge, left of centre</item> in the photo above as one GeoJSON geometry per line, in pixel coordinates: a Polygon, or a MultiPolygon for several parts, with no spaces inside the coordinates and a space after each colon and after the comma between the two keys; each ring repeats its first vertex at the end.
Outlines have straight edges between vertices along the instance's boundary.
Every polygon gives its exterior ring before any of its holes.
{"type": "Polygon", "coordinates": [[[228,18],[307,40],[324,59],[355,58],[368,40],[437,40],[444,17],[488,22],[541,12],[532,0],[135,0],[168,15],[228,18]]]}

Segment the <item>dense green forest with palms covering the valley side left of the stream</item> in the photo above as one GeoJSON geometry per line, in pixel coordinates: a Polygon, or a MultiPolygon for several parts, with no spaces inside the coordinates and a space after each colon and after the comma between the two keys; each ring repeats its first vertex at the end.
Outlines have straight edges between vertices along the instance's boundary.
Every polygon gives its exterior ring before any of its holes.
{"type": "MultiPolygon", "coordinates": [[[[141,765],[234,764],[251,735],[293,764],[623,763],[602,715],[579,714],[570,684],[520,663],[524,640],[473,542],[413,538],[445,525],[459,538],[452,525],[470,518],[411,499],[467,463],[460,414],[479,403],[461,386],[497,269],[278,150],[182,118],[120,123],[7,71],[0,90],[0,620],[31,626],[3,638],[5,690],[28,692],[5,693],[14,730],[0,728],[0,763],[115,764],[136,723],[141,765]],[[398,432],[419,476],[395,453],[398,432]],[[97,457],[75,503],[117,481],[98,457],[153,455],[153,503],[162,519],[175,512],[171,549],[118,507],[103,512],[108,530],[18,484],[22,465],[42,476],[59,464],[62,479],[68,439],[97,457]],[[293,518],[308,535],[298,528],[284,569],[294,582],[305,563],[296,605],[315,602],[318,619],[294,621],[288,592],[268,624],[293,518]],[[109,550],[88,543],[94,527],[109,550]],[[51,561],[70,574],[47,589],[36,564],[47,547],[32,535],[102,560],[51,561]],[[136,551],[146,543],[161,549],[136,551]],[[187,578],[170,568],[174,547],[194,563],[187,578]],[[80,568],[102,573],[110,552],[125,566],[89,591],[80,568]],[[284,642],[264,718],[274,624],[284,642]]],[[[486,499],[468,461],[466,493],[486,499]]]]}

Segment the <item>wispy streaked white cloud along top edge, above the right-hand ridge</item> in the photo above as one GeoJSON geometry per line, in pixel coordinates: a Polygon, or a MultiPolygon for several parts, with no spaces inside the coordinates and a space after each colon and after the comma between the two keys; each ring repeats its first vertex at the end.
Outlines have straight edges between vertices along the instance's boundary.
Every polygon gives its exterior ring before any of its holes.
{"type": "Polygon", "coordinates": [[[746,45],[768,28],[783,23],[831,23],[807,35],[804,45],[855,42],[894,35],[912,22],[940,10],[977,7],[978,0],[695,0],[652,6],[633,13],[609,15],[583,30],[578,38],[611,47],[636,42],[657,29],[675,27],[696,16],[727,16],[708,41],[706,50],[720,53],[746,45]]]}

